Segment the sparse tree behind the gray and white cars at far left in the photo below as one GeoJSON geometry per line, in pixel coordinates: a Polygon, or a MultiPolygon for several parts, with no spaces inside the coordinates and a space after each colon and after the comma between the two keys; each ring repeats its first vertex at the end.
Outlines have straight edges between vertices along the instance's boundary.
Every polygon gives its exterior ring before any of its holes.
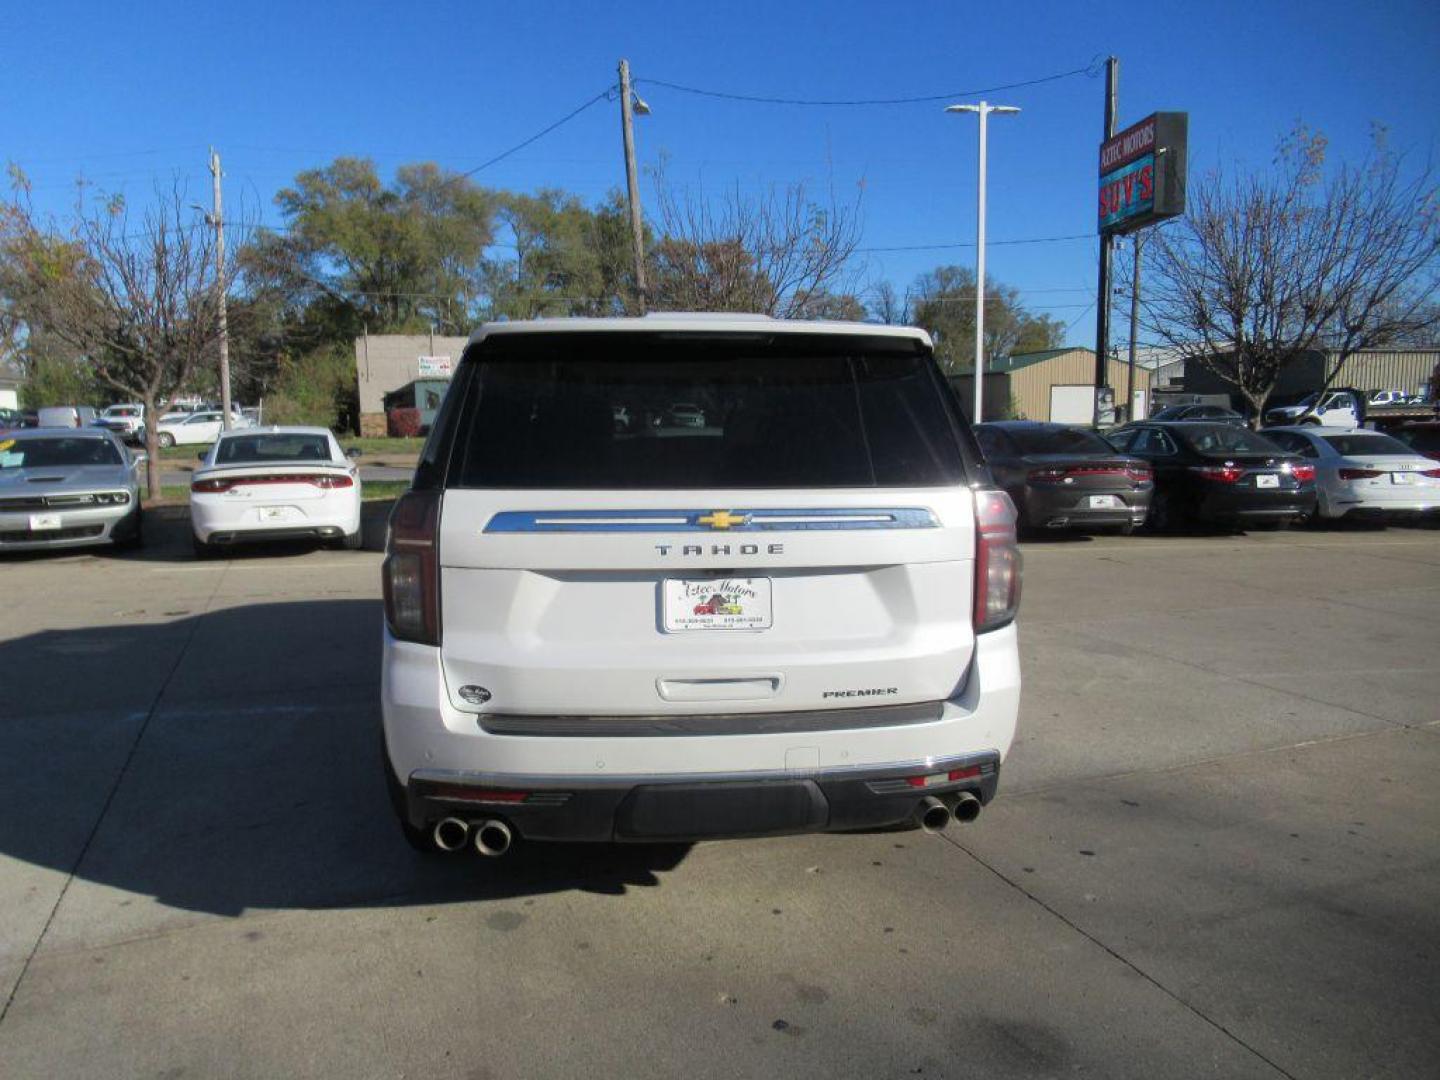
{"type": "Polygon", "coordinates": [[[180,186],[134,219],[122,197],[76,199],[68,229],[36,217],[24,177],[0,203],[0,289],[27,327],[85,356],[145,406],[147,485],[160,494],[156,422],[219,336],[213,232],[180,186]]]}

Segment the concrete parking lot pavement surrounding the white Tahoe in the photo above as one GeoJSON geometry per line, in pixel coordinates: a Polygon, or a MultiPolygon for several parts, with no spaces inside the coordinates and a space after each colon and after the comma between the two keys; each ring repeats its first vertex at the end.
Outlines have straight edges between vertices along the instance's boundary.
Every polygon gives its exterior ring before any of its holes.
{"type": "Polygon", "coordinates": [[[1440,1074],[1434,530],[1028,544],[973,825],[501,863],[395,829],[374,550],[151,534],[0,562],[0,1076],[1440,1074]]]}

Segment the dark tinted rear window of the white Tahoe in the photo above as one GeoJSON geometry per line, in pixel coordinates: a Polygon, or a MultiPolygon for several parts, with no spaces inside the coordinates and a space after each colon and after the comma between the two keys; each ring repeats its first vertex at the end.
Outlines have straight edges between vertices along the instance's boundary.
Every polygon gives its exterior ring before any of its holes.
{"type": "Polygon", "coordinates": [[[909,341],[556,334],[492,343],[451,487],[900,487],[965,481],[909,341]],[[868,344],[867,344],[868,343],[868,344]]]}

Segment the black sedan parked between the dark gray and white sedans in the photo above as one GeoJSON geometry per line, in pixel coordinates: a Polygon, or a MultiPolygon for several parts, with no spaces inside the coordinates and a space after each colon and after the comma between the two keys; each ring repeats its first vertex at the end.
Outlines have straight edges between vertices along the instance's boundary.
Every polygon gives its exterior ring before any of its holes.
{"type": "Polygon", "coordinates": [[[1286,526],[1315,513],[1315,465],[1248,428],[1197,420],[1129,423],[1106,436],[1155,469],[1146,524],[1286,526]]]}

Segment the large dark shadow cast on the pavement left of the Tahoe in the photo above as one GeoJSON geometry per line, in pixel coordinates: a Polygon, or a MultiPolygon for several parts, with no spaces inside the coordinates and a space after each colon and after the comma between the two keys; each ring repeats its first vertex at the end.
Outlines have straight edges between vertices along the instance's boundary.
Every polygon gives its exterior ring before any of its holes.
{"type": "Polygon", "coordinates": [[[0,855],[73,873],[68,904],[120,922],[134,894],[225,916],[621,896],[685,857],[412,851],[383,779],[380,618],[377,600],[259,603],[0,642],[0,855]]]}

